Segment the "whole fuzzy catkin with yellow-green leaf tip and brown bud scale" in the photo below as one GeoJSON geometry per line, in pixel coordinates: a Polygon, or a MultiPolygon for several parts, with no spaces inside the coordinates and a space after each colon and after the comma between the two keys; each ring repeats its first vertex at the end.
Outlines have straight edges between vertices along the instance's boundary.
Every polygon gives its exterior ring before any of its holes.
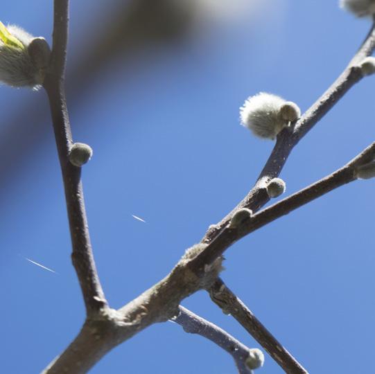
{"type": "Polygon", "coordinates": [[[12,87],[39,89],[44,82],[49,46],[15,25],[0,22],[0,81],[12,87]]]}

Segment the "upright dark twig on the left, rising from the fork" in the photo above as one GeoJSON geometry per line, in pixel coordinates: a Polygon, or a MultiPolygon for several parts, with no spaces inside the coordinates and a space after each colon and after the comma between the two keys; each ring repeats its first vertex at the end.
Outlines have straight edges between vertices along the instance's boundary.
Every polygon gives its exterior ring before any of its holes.
{"type": "Polygon", "coordinates": [[[64,69],[67,55],[69,0],[54,1],[53,48],[44,89],[49,96],[53,130],[58,148],[65,199],[73,247],[72,260],[76,268],[87,315],[98,312],[107,305],[98,279],[89,238],[80,168],[68,159],[73,143],[69,115],[64,93],[64,69]]]}

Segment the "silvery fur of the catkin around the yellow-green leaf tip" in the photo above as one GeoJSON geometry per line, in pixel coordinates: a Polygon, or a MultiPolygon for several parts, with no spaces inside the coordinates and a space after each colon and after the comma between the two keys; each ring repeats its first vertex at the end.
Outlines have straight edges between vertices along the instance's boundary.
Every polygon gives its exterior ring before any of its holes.
{"type": "Polygon", "coordinates": [[[28,46],[35,38],[15,25],[10,25],[7,29],[25,48],[14,48],[0,40],[0,81],[12,87],[38,89],[44,77],[28,53],[28,46]]]}

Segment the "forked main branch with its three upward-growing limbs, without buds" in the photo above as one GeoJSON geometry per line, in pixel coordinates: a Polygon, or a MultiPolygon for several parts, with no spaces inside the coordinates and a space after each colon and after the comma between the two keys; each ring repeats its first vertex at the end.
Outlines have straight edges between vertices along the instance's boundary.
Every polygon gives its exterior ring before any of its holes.
{"type": "MultiPolygon", "coordinates": [[[[272,222],[277,217],[288,214],[329,190],[354,180],[355,166],[365,163],[365,159],[369,161],[370,157],[374,157],[375,145],[371,145],[354,161],[329,177],[256,213],[243,226],[236,229],[227,227],[234,211],[238,208],[246,206],[256,211],[268,202],[269,198],[265,191],[266,182],[279,175],[288,154],[302,136],[333,107],[354,83],[362,78],[358,68],[349,65],[331,89],[326,91],[326,94],[317,100],[317,103],[297,121],[293,132],[286,129],[279,134],[270,159],[263,168],[254,188],[232,213],[229,213],[216,228],[211,229],[205,235],[203,241],[209,245],[193,258],[182,258],[166,278],[143,292],[137,299],[120,310],[112,310],[105,301],[91,251],[80,182],[80,168],[71,165],[68,160],[69,150],[73,143],[64,95],[69,1],[55,0],[54,5],[53,51],[44,88],[51,105],[53,128],[64,180],[73,246],[73,265],[76,268],[85,299],[87,319],[78,337],[60,357],[54,360],[45,373],[67,372],[74,374],[85,373],[110,349],[150,324],[175,317],[178,314],[178,304],[182,299],[197,290],[209,288],[211,283],[207,283],[207,275],[209,276],[210,273],[210,265],[223,254],[225,249],[236,240],[272,222]]],[[[369,54],[374,49],[374,39],[375,33],[372,28],[357,56],[369,54]]]]}

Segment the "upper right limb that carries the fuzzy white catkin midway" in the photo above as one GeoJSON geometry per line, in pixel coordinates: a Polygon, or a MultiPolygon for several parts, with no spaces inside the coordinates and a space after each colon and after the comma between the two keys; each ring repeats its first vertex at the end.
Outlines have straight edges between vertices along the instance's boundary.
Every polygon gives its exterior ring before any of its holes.
{"type": "Polygon", "coordinates": [[[354,55],[353,59],[342,72],[335,82],[327,89],[320,98],[299,118],[297,123],[290,132],[289,129],[284,129],[277,136],[277,142],[274,145],[272,153],[265,163],[261,174],[252,190],[246,195],[246,197],[234,208],[226,217],[223,218],[218,224],[210,226],[207,233],[202,238],[202,242],[211,242],[223,230],[229,223],[229,220],[238,209],[250,208],[252,211],[258,211],[264,206],[269,200],[268,194],[265,191],[265,186],[274,177],[278,177],[282,168],[284,167],[286,160],[290,152],[297,143],[307,134],[313,126],[320,121],[320,119],[329,110],[338,103],[338,100],[344,96],[351,87],[359,82],[363,75],[360,71],[358,62],[364,57],[371,55],[375,48],[375,24],[372,24],[371,30],[365,41],[354,55]]]}

